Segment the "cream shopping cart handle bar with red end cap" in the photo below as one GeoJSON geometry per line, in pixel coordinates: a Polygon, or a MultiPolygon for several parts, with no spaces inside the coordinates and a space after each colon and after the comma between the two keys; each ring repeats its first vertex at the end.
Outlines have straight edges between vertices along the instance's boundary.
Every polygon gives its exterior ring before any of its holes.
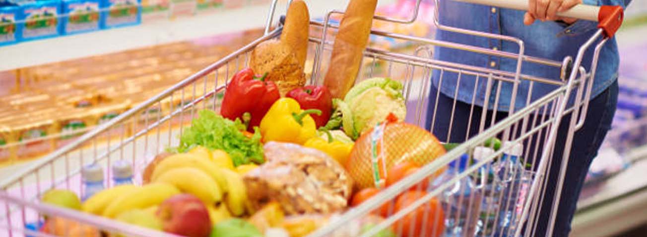
{"type": "MultiPolygon", "coordinates": [[[[515,10],[528,10],[528,0],[454,0],[465,3],[474,3],[479,5],[496,6],[500,8],[510,8],[515,10]]],[[[598,22],[598,28],[604,30],[604,35],[613,37],[617,32],[622,20],[624,19],[624,9],[622,6],[592,6],[576,5],[565,12],[558,12],[560,17],[571,17],[587,21],[598,22]]]]}

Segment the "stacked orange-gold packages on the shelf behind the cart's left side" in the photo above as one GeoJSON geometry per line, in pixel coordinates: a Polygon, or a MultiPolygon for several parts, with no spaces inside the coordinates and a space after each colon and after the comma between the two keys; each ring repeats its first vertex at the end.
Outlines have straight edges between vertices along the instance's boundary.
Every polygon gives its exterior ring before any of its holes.
{"type": "MultiPolygon", "coordinates": [[[[241,41],[173,43],[24,68],[21,90],[0,96],[0,165],[67,145],[260,35],[257,30],[230,36],[242,37],[241,41]]],[[[226,77],[225,71],[219,72],[218,85],[223,85],[226,77]]],[[[157,121],[158,116],[193,101],[194,89],[197,95],[214,90],[215,76],[208,78],[195,88],[176,92],[158,108],[142,112],[132,123],[116,127],[98,140],[130,136],[157,121]]],[[[206,102],[197,107],[215,106],[213,100],[206,102]]],[[[187,123],[191,112],[174,117],[170,125],[187,123]]]]}

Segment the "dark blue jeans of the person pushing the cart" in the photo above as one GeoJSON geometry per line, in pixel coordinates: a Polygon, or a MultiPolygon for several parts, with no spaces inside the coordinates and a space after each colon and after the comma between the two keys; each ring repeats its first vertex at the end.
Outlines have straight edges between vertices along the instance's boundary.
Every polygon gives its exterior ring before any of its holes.
{"type": "MultiPolygon", "coordinates": [[[[430,99],[428,103],[428,114],[433,114],[437,89],[432,87],[430,99]]],[[[562,187],[562,194],[560,204],[558,207],[554,231],[548,236],[551,237],[567,237],[571,231],[571,220],[575,213],[576,204],[584,178],[589,170],[591,161],[597,156],[598,149],[602,145],[602,140],[606,136],[609,129],[611,129],[611,121],[615,114],[615,107],[618,98],[618,82],[615,80],[604,92],[591,99],[589,108],[586,113],[586,120],[582,128],[575,132],[573,137],[573,148],[568,161],[567,170],[564,179],[564,186],[562,187]]],[[[438,98],[437,110],[439,113],[450,114],[454,99],[445,96],[443,93],[438,98]]],[[[449,131],[450,116],[437,116],[432,129],[433,134],[440,140],[446,142],[461,143],[465,141],[466,134],[471,138],[478,133],[479,122],[481,119],[481,112],[483,108],[474,107],[472,112],[472,123],[469,132],[467,131],[468,119],[470,118],[471,105],[456,101],[454,110],[454,121],[452,123],[452,135],[450,141],[447,141],[447,133],[449,131]]],[[[500,121],[507,116],[507,112],[496,112],[496,121],[500,121]]],[[[492,110],[487,111],[486,128],[490,124],[492,118],[492,110]]],[[[562,154],[564,154],[564,145],[566,143],[565,134],[568,132],[568,125],[571,115],[567,115],[560,123],[558,136],[554,147],[553,162],[550,166],[550,174],[548,177],[548,185],[545,187],[545,196],[543,198],[542,209],[538,216],[538,227],[534,234],[531,236],[546,236],[547,223],[549,220],[551,208],[553,207],[555,183],[559,175],[562,154]]],[[[432,119],[427,119],[426,128],[430,130],[432,119]]],[[[529,122],[529,124],[531,124],[529,122]]],[[[530,141],[542,139],[526,139],[530,141]]],[[[533,145],[534,144],[524,144],[533,145]]],[[[543,147],[540,144],[539,147],[543,147]]],[[[540,149],[541,150],[541,149],[540,149]]],[[[532,151],[532,149],[531,149],[532,151]]],[[[524,154],[527,157],[533,157],[533,154],[524,154]]],[[[540,156],[536,156],[540,157],[540,156]]],[[[508,237],[508,236],[505,236],[508,237]]]]}

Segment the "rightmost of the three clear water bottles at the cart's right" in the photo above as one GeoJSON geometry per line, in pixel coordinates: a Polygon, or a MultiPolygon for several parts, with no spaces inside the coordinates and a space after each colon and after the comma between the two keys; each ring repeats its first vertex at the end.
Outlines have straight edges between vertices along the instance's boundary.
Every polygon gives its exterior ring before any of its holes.
{"type": "Polygon", "coordinates": [[[532,177],[520,161],[523,145],[503,145],[509,149],[503,152],[501,160],[494,163],[496,178],[504,185],[499,208],[499,228],[494,236],[512,236],[521,218],[523,197],[527,195],[532,177]]]}

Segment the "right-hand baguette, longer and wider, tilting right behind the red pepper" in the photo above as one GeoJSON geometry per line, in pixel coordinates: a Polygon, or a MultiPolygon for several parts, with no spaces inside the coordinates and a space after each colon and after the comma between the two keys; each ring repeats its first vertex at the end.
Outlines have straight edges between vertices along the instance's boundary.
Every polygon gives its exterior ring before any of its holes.
{"type": "Polygon", "coordinates": [[[377,0],[351,0],[334,39],[333,53],[323,85],[333,98],[344,99],[355,85],[364,49],[368,43],[377,0]]]}

